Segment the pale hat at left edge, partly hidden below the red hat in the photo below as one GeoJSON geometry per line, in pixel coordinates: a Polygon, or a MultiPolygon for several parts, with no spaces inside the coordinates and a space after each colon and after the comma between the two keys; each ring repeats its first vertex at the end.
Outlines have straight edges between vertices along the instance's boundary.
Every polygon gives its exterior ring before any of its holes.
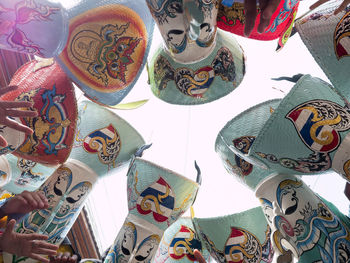
{"type": "Polygon", "coordinates": [[[53,174],[56,168],[18,158],[12,154],[0,156],[0,175],[7,174],[10,179],[0,187],[13,194],[20,194],[25,190],[33,192],[53,174]]]}

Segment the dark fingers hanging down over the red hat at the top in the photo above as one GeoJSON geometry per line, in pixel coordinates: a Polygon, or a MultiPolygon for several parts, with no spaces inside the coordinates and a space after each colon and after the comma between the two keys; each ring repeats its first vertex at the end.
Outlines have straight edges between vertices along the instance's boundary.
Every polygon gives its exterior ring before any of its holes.
{"type": "MultiPolygon", "coordinates": [[[[259,0],[260,22],[258,32],[263,33],[270,24],[271,17],[276,11],[281,0],[259,0]]],[[[248,37],[253,31],[258,15],[256,0],[244,0],[245,26],[244,35],[248,37]]]]}

